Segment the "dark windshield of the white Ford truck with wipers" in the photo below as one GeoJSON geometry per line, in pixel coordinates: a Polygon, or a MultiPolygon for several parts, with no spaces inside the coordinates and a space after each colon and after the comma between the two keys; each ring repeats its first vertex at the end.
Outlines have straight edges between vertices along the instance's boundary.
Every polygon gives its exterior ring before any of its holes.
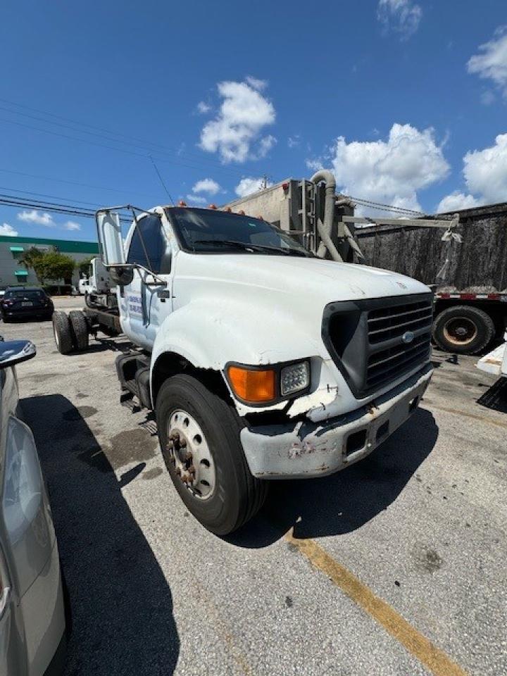
{"type": "Polygon", "coordinates": [[[264,253],[311,256],[279,228],[259,218],[211,209],[170,208],[184,249],[194,253],[264,253]]]}

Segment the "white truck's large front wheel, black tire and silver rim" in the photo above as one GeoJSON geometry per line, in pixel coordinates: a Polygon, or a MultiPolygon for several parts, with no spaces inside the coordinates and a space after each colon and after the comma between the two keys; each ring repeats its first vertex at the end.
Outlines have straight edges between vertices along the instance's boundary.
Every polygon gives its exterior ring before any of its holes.
{"type": "Polygon", "coordinates": [[[165,466],[204,527],[226,535],[256,514],[268,487],[246,464],[236,411],[196,378],[175,375],[158,392],[156,420],[165,466]]]}

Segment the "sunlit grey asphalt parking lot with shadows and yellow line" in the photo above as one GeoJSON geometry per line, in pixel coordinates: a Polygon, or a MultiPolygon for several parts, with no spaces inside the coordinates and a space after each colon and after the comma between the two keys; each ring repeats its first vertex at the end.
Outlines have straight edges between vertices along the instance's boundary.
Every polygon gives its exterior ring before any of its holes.
{"type": "Polygon", "coordinates": [[[220,539],[173,489],[153,416],[120,405],[125,340],[62,356],[51,323],[0,334],[37,345],[18,378],[73,608],[66,676],[507,673],[506,395],[475,358],[435,352],[369,458],[273,482],[220,539]]]}

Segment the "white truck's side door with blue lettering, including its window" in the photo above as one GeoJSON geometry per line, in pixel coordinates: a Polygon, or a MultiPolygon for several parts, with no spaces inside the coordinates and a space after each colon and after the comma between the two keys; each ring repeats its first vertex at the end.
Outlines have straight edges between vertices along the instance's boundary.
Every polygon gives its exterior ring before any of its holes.
{"type": "Polygon", "coordinates": [[[151,270],[167,285],[157,283],[146,270],[134,268],[132,282],[123,287],[120,308],[124,330],[130,338],[151,350],[158,327],[172,311],[172,247],[158,213],[137,221],[127,251],[126,263],[137,263],[151,270]]]}

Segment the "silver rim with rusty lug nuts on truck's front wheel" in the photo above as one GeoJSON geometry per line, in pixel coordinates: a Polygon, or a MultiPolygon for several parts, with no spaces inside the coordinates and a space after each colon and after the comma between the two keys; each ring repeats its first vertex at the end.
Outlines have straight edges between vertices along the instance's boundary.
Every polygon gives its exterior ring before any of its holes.
{"type": "Polygon", "coordinates": [[[215,491],[215,463],[201,425],[181,408],[173,411],[167,425],[165,450],[176,478],[199,500],[215,491]]]}

